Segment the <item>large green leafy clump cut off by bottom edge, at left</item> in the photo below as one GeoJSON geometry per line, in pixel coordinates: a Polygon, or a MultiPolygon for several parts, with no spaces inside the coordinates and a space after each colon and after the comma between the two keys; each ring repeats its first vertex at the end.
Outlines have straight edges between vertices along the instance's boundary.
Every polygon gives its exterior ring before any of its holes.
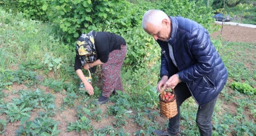
{"type": "Polygon", "coordinates": [[[40,112],[39,117],[32,121],[25,122],[25,126],[20,126],[16,135],[50,135],[56,136],[61,130],[57,130],[59,122],[54,121],[47,114],[40,112]]]}

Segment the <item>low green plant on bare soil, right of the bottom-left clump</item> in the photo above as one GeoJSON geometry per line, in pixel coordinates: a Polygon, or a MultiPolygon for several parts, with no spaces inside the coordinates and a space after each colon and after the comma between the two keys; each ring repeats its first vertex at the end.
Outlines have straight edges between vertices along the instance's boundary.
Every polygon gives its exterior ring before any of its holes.
{"type": "Polygon", "coordinates": [[[92,128],[90,123],[91,123],[91,120],[83,116],[81,119],[76,120],[76,123],[70,123],[69,126],[67,127],[68,128],[67,131],[69,132],[69,131],[76,130],[76,132],[81,132],[82,130],[84,130],[88,132],[92,128]]]}

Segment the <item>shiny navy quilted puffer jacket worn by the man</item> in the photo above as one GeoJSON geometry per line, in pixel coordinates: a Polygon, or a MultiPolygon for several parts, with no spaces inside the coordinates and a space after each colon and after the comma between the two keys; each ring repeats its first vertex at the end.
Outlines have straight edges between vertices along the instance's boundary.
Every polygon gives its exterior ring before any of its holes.
{"type": "Polygon", "coordinates": [[[227,82],[227,69],[212,45],[209,33],[200,24],[183,17],[170,17],[171,35],[160,41],[160,76],[178,73],[195,101],[203,106],[213,100],[227,82]],[[172,46],[177,67],[169,56],[168,43],[172,46]]]}

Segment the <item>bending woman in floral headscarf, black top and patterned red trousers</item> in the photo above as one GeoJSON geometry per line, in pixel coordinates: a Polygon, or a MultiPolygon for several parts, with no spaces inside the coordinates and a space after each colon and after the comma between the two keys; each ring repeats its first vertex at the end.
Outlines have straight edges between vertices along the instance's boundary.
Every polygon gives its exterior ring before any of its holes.
{"type": "Polygon", "coordinates": [[[86,70],[101,66],[103,88],[96,104],[109,101],[115,90],[123,91],[120,70],[126,55],[126,42],[116,34],[90,31],[82,34],[76,43],[75,71],[85,85],[89,95],[94,94],[92,85],[86,80],[81,68],[86,70]]]}

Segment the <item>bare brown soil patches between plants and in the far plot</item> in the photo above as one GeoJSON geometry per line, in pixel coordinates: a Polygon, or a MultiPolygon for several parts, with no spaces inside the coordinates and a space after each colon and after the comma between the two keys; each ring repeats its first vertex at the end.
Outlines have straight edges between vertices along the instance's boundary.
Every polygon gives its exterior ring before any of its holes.
{"type": "MultiPolygon", "coordinates": [[[[220,31],[217,31],[217,32],[211,34],[211,38],[216,39],[218,35],[220,35],[220,31]]],[[[239,27],[239,26],[224,26],[223,32],[222,32],[222,40],[230,41],[230,42],[237,41],[237,42],[256,43],[256,28],[246,28],[246,27],[239,27]]],[[[14,66],[13,70],[17,70],[17,67],[14,66]]],[[[48,76],[54,77],[53,74],[50,74],[48,76]]],[[[46,92],[50,92],[47,87],[40,86],[40,88],[46,90],[46,92]]],[[[18,85],[17,83],[14,83],[14,85],[12,86],[12,91],[3,90],[4,93],[9,95],[5,98],[5,101],[10,101],[12,98],[18,97],[16,94],[14,94],[14,92],[17,92],[20,89],[28,89],[28,88],[24,85],[18,85]]],[[[56,93],[56,94],[54,94],[54,96],[56,96],[56,99],[55,99],[56,109],[59,109],[61,107],[63,98],[65,96],[62,95],[61,93],[56,93]]],[[[220,97],[220,99],[221,99],[221,97],[220,97]]],[[[106,113],[107,107],[108,107],[108,105],[111,105],[111,104],[113,104],[113,103],[108,103],[106,105],[101,105],[99,107],[102,109],[102,113],[103,113],[102,117],[104,117],[104,114],[107,114],[106,113]]],[[[228,107],[230,108],[230,106],[228,106],[228,105],[224,106],[224,108],[226,108],[226,110],[231,110],[232,113],[235,114],[236,106],[233,105],[231,107],[231,109],[228,109],[228,107]]],[[[157,110],[157,109],[155,109],[155,110],[157,110]]],[[[39,109],[32,110],[32,114],[31,114],[31,117],[29,120],[33,120],[35,117],[37,117],[38,112],[40,112],[39,109]]],[[[77,133],[75,131],[66,132],[68,123],[75,122],[77,120],[76,114],[77,114],[76,109],[67,108],[67,109],[64,109],[63,111],[56,111],[56,115],[53,116],[52,118],[55,121],[60,122],[60,124],[58,125],[58,130],[61,130],[61,133],[59,134],[60,136],[86,136],[87,135],[86,132],[81,132],[81,133],[77,133]]],[[[250,118],[250,116],[251,115],[249,115],[249,117],[247,116],[247,118],[250,118]]],[[[6,119],[6,115],[3,114],[0,116],[0,118],[6,119]]],[[[109,116],[107,119],[102,118],[101,122],[92,121],[91,125],[94,126],[94,128],[102,128],[102,127],[106,127],[108,125],[113,126],[112,122],[115,122],[115,119],[113,118],[113,116],[109,116]]],[[[158,123],[159,126],[164,127],[164,126],[167,126],[168,119],[160,116],[160,117],[157,117],[157,119],[155,120],[155,123],[158,123]]],[[[8,123],[6,125],[5,135],[14,136],[15,131],[18,129],[19,125],[20,125],[20,121],[17,121],[14,123],[8,123]]],[[[141,130],[142,128],[140,126],[138,126],[136,123],[134,123],[134,120],[127,119],[127,124],[125,126],[123,126],[122,129],[124,129],[126,132],[133,135],[135,131],[141,130]]],[[[182,129],[182,127],[181,127],[181,129],[182,129]]]]}

